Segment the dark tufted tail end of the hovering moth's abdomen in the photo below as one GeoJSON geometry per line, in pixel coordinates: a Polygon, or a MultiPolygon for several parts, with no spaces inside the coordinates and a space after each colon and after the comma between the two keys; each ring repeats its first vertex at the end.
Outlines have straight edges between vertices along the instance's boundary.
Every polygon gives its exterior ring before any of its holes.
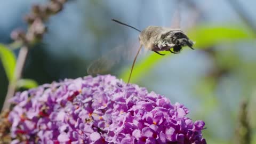
{"type": "Polygon", "coordinates": [[[191,41],[188,36],[181,30],[173,30],[171,33],[171,39],[175,46],[188,46],[193,49],[194,42],[191,41]]]}

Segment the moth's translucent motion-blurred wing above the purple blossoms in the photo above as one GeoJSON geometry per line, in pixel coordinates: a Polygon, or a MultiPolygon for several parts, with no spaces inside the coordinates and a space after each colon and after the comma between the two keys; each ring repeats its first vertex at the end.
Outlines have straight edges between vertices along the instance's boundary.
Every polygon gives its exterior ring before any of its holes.
{"type": "Polygon", "coordinates": [[[133,44],[127,43],[126,45],[119,45],[113,50],[104,54],[101,58],[93,61],[89,65],[87,73],[90,75],[103,74],[106,73],[106,71],[109,71],[121,61],[132,61],[138,49],[138,42],[133,44]]]}

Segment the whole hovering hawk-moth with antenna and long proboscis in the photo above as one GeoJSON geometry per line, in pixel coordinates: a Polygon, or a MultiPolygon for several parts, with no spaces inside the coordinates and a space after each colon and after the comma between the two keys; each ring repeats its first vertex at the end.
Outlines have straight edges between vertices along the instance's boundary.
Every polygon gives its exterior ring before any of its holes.
{"type": "MultiPolygon", "coordinates": [[[[139,50],[137,51],[137,54],[135,55],[135,58],[133,59],[128,83],[130,82],[135,61],[137,60],[138,54],[142,49],[142,46],[144,46],[146,50],[151,50],[159,55],[165,55],[165,54],[162,54],[161,51],[169,51],[171,53],[177,54],[181,51],[182,47],[184,46],[189,46],[191,49],[193,49],[192,46],[194,42],[191,41],[188,38],[188,36],[180,29],[165,28],[165,27],[159,27],[159,26],[148,26],[147,28],[141,31],[121,21],[118,21],[115,19],[112,19],[112,20],[117,23],[120,23],[121,25],[125,25],[127,27],[133,28],[140,32],[140,35],[139,35],[140,46],[139,46],[139,50]]],[[[104,60],[95,61],[87,69],[88,73],[89,74],[93,74],[95,72],[97,73],[100,69],[99,66],[101,67],[101,69],[105,70],[106,69],[105,64],[109,61],[109,59],[110,58],[108,57],[108,58],[104,58],[104,60]],[[99,66],[95,67],[95,65],[99,65],[99,66]]],[[[108,62],[108,65],[112,66],[113,62],[108,62]]]]}

